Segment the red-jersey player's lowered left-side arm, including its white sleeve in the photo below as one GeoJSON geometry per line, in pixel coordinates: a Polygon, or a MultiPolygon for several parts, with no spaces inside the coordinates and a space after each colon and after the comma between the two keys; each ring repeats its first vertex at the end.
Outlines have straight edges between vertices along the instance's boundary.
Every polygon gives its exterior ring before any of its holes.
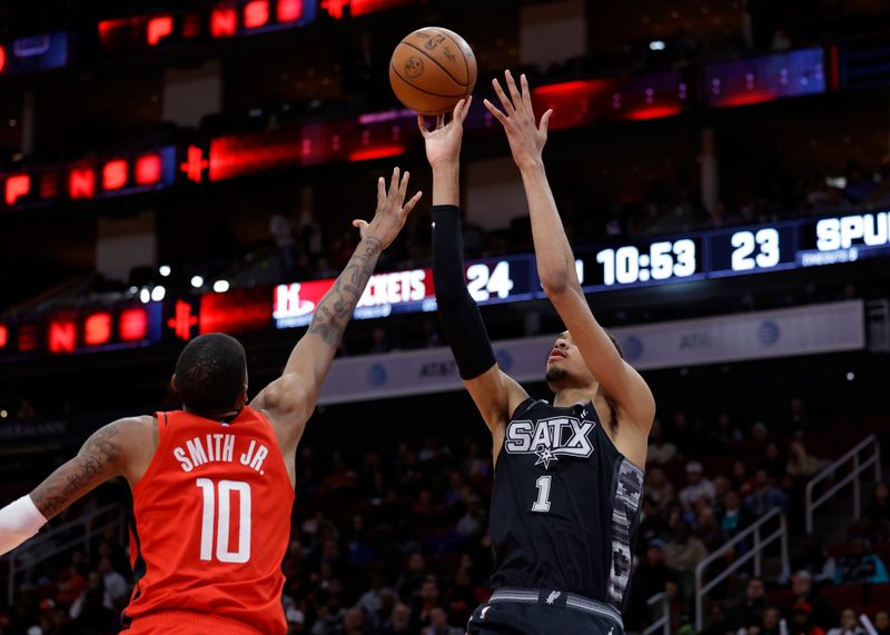
{"type": "Polygon", "coordinates": [[[75,458],[28,496],[0,509],[0,556],[37,534],[47,520],[106,480],[125,476],[135,485],[157,447],[152,417],[119,419],[99,428],[75,458]]]}

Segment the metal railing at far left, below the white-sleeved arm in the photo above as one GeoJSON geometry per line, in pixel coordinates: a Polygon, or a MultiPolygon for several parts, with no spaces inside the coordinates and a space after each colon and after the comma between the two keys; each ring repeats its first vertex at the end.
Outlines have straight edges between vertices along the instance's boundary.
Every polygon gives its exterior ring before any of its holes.
{"type": "Polygon", "coordinates": [[[6,556],[9,560],[9,588],[7,589],[9,603],[12,604],[16,599],[16,576],[18,574],[26,573],[40,563],[78,546],[81,546],[89,556],[90,540],[100,536],[112,523],[117,523],[118,537],[122,542],[125,534],[123,508],[120,505],[106,505],[80,518],[41,532],[9,553],[6,556]],[[103,517],[106,522],[100,523],[99,520],[103,517]]]}

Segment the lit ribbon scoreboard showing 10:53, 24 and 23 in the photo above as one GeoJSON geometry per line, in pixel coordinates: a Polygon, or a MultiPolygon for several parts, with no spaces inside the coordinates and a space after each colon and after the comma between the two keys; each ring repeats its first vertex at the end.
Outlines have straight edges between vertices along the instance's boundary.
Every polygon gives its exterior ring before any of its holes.
{"type": "MultiPolygon", "coordinates": [[[[577,249],[575,267],[587,294],[720,280],[890,257],[890,211],[805,218],[692,231],[577,249]]],[[[886,269],[890,271],[890,269],[886,269]]],[[[466,284],[482,306],[544,299],[534,254],[469,260],[466,284]]],[[[231,334],[305,327],[334,278],[226,292],[168,295],[138,304],[131,294],[113,306],[60,309],[0,319],[0,361],[187,341],[217,330],[231,334]]],[[[354,319],[436,310],[429,267],[370,277],[354,319]]]]}

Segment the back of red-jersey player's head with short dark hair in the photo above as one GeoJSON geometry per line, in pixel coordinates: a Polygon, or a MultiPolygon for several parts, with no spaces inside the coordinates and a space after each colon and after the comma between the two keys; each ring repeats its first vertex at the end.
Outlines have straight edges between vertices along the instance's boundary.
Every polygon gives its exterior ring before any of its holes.
{"type": "Polygon", "coordinates": [[[230,410],[246,383],[244,346],[224,333],[196,337],[176,361],[176,389],[182,404],[198,415],[230,410]]]}

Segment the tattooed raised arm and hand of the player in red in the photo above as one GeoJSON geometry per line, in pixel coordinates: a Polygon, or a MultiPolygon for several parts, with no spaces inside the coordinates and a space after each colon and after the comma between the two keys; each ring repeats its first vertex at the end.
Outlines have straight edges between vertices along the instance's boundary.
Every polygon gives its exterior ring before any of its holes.
{"type": "Polygon", "coordinates": [[[322,384],[330,369],[343,333],[365,291],[380,251],[386,249],[405,225],[421,199],[417,192],[405,204],[408,172],[399,179],[393,170],[389,190],[383,177],[377,181],[377,210],[368,224],[354,220],[362,241],[330,290],[325,294],[306,334],[287,359],[281,377],[269,384],[250,404],[264,410],[279,435],[284,452],[296,448],[306,421],[315,409],[322,384]],[[403,205],[404,204],[404,205],[403,205]]]}

